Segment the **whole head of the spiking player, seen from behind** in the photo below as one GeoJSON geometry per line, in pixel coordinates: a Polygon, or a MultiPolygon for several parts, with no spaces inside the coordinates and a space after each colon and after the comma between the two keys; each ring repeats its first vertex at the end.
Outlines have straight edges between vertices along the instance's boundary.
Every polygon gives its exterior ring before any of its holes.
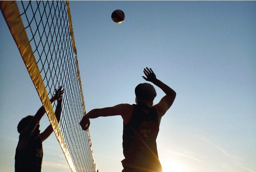
{"type": "Polygon", "coordinates": [[[153,106],[153,100],[157,96],[157,92],[153,85],[149,83],[140,83],[135,88],[136,104],[148,106],[153,106]]]}

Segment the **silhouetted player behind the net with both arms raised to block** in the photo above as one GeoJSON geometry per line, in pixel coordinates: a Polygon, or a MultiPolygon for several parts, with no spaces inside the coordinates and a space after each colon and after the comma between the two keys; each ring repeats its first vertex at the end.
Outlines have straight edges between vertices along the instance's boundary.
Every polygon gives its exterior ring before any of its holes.
{"type": "MultiPolygon", "coordinates": [[[[55,95],[50,99],[51,103],[57,100],[55,116],[59,122],[62,110],[62,94],[64,90],[55,89],[55,95]]],[[[39,130],[39,122],[45,114],[42,106],[37,113],[23,118],[18,126],[19,141],[15,153],[15,172],[41,172],[43,147],[42,142],[53,132],[50,124],[42,133],[39,130]]]]}

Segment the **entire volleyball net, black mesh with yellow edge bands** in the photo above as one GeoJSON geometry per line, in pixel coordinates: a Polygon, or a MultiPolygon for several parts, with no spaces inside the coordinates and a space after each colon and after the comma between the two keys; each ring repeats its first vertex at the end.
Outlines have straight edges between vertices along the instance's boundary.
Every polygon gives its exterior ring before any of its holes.
{"type": "Polygon", "coordinates": [[[0,1],[0,8],[72,172],[96,172],[68,1],[0,1]],[[59,123],[49,97],[63,86],[59,123]]]}

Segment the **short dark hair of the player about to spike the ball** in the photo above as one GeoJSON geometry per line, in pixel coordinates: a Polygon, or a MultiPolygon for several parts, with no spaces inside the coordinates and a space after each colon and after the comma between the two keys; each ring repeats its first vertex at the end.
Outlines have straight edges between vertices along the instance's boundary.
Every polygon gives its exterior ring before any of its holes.
{"type": "Polygon", "coordinates": [[[135,88],[135,95],[141,100],[154,100],[157,96],[157,92],[153,85],[149,83],[140,83],[135,88]]]}

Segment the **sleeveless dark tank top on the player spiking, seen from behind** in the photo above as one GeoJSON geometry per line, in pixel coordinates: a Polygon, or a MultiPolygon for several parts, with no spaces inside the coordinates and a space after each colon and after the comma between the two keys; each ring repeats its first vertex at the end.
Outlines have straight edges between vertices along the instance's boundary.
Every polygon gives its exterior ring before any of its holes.
{"type": "Polygon", "coordinates": [[[162,172],[157,152],[159,122],[157,111],[149,108],[145,113],[138,105],[133,105],[131,120],[123,124],[124,167],[122,172],[162,172]]]}

